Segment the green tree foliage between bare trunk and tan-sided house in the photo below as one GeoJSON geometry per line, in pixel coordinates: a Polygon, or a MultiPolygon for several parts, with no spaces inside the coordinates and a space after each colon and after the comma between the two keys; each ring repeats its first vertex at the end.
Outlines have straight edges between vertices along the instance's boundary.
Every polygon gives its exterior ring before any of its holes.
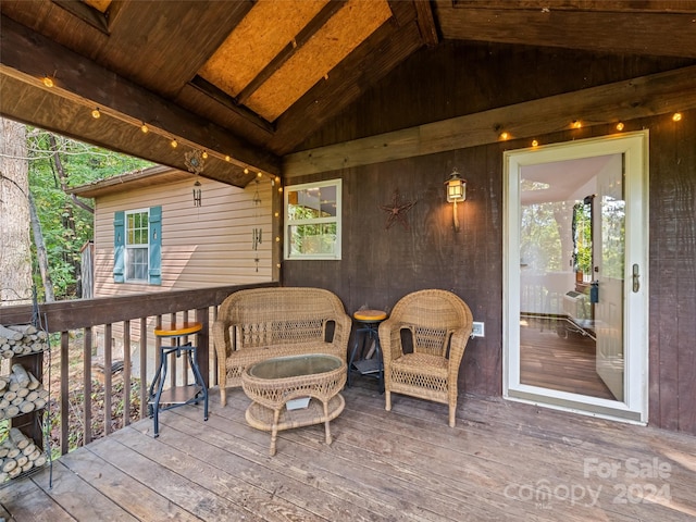
{"type": "MultiPolygon", "coordinates": [[[[78,298],[76,279],[80,249],[94,237],[94,215],[76,204],[65,194],[64,187],[112,177],[151,166],[152,163],[32,127],[27,127],[27,150],[29,189],[41,223],[55,299],[78,298]],[[51,142],[51,137],[54,142],[51,142]],[[62,165],[64,178],[61,178],[59,165],[62,165]]],[[[83,201],[94,208],[92,200],[83,201]]],[[[44,285],[36,265],[35,244],[33,259],[35,284],[41,300],[44,285]]]]}

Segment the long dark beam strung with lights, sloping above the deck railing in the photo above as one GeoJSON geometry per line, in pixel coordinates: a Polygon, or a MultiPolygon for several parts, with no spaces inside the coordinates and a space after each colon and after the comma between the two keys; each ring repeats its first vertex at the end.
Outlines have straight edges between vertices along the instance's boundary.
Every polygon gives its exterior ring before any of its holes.
{"type": "MultiPolygon", "coordinates": [[[[7,16],[0,20],[2,34],[0,39],[0,64],[2,76],[21,80],[27,88],[46,89],[41,78],[54,73],[55,86],[50,89],[53,96],[60,96],[67,105],[84,105],[87,114],[95,107],[108,111],[112,116],[125,122],[145,122],[158,133],[177,138],[182,142],[190,144],[219,157],[231,157],[229,167],[260,170],[273,175],[279,174],[279,159],[270,152],[261,150],[232,132],[203,120],[173,102],[165,100],[149,90],[98,65],[94,61],[59,46],[48,38],[24,27],[7,16]]],[[[4,82],[2,85],[15,85],[4,82]]],[[[0,92],[0,112],[11,115],[17,112],[16,107],[9,107],[5,97],[0,92]]],[[[27,98],[28,99],[28,98],[27,98]]],[[[21,102],[22,98],[15,98],[21,102]]],[[[30,114],[36,109],[25,108],[24,113],[30,114]]],[[[59,122],[54,122],[60,125],[59,122]]],[[[70,120],[63,119],[66,128],[55,129],[71,135],[70,120]]],[[[39,122],[35,124],[40,125],[39,122]]],[[[137,127],[134,126],[135,129],[137,127]]],[[[94,142],[94,141],[92,141],[94,142]]],[[[98,144],[112,148],[112,144],[98,144]]],[[[129,142],[123,151],[151,161],[162,162],[151,158],[147,148],[138,149],[138,144],[129,142]]],[[[179,156],[183,156],[179,154],[179,156]]],[[[171,164],[172,162],[163,162],[171,164]]],[[[177,165],[172,165],[177,166],[177,165]]],[[[179,166],[177,166],[179,167],[179,166]]],[[[236,176],[235,176],[236,177],[236,176]]]]}

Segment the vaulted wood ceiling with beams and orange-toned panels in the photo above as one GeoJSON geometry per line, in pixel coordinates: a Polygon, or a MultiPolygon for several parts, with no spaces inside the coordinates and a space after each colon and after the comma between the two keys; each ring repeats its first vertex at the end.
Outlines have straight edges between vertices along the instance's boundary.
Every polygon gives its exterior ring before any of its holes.
{"type": "Polygon", "coordinates": [[[186,151],[206,151],[204,175],[237,186],[278,174],[442,39],[696,58],[691,0],[2,0],[0,12],[2,115],[184,170],[186,151]]]}

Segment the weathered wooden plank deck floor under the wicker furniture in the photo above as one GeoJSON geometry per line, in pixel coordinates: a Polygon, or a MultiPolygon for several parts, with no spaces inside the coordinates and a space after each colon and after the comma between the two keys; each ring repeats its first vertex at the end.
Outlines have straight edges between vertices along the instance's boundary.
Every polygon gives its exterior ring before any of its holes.
{"type": "Polygon", "coordinates": [[[97,440],[0,489],[8,520],[676,521],[696,518],[696,437],[501,399],[447,409],[403,396],[391,412],[374,381],[346,389],[323,428],[270,435],[231,390],[97,440]]]}

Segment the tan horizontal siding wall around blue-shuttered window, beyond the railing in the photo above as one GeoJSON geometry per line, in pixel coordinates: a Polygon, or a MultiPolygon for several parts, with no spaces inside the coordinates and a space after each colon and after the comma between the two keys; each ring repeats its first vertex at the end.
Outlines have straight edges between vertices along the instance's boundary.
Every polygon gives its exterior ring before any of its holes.
{"type": "Polygon", "coordinates": [[[272,279],[271,183],[245,189],[200,179],[202,206],[194,207],[192,181],[103,196],[95,212],[95,296],[195,289],[272,279]],[[162,206],[162,285],[113,282],[113,213],[162,206]],[[252,250],[252,228],[262,243],[252,250]],[[258,256],[258,271],[254,258],[258,256]]]}

